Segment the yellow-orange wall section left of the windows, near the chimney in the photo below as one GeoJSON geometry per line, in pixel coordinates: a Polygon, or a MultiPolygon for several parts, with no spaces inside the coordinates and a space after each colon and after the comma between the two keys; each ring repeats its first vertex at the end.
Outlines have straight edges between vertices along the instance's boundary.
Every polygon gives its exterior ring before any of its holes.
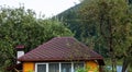
{"type": "Polygon", "coordinates": [[[35,70],[35,63],[34,62],[24,62],[23,63],[23,72],[32,72],[35,70]]]}

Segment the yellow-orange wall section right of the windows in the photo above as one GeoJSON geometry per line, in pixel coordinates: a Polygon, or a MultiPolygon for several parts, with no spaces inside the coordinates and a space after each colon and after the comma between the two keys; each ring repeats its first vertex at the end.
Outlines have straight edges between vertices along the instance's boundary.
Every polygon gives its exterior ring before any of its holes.
{"type": "Polygon", "coordinates": [[[88,69],[88,72],[95,72],[96,70],[99,70],[98,63],[96,61],[86,61],[86,68],[88,69]]]}

